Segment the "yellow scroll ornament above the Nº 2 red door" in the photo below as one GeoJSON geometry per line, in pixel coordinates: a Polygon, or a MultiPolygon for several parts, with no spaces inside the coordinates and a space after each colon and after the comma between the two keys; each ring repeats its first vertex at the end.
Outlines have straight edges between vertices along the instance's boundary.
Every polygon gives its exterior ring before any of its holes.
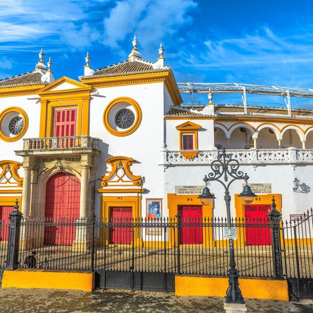
{"type": "Polygon", "coordinates": [[[132,158],[116,156],[105,160],[112,169],[107,176],[102,176],[101,186],[140,186],[142,177],[136,176],[131,171],[131,166],[136,162],[132,158]]]}

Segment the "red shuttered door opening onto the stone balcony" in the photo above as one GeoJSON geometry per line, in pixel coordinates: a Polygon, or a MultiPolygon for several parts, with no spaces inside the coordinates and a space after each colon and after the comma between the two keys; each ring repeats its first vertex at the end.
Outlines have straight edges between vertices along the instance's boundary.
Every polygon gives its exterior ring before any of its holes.
{"type": "MultiPolygon", "coordinates": [[[[55,110],[54,137],[76,136],[76,108],[55,110]]],[[[59,147],[73,147],[73,139],[62,139],[59,147]]]]}

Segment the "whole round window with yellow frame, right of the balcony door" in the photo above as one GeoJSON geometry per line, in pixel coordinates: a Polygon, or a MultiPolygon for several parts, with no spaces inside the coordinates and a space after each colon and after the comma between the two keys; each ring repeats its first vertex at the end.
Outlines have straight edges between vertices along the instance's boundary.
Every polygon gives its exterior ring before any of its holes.
{"type": "Polygon", "coordinates": [[[142,112],[139,104],[127,97],[111,101],[104,110],[103,123],[106,130],[114,136],[128,136],[139,127],[142,112]]]}

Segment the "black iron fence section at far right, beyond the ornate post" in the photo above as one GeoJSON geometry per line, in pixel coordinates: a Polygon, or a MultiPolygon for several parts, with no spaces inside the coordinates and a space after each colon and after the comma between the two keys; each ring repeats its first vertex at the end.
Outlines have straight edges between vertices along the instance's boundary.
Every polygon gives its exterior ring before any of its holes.
{"type": "Polygon", "coordinates": [[[313,210],[282,221],[282,251],[285,274],[291,278],[313,278],[313,210]]]}

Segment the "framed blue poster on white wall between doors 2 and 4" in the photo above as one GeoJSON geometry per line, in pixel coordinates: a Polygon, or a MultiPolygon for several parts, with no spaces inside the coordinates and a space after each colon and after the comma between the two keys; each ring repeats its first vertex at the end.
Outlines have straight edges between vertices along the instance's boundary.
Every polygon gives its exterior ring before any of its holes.
{"type": "Polygon", "coordinates": [[[161,227],[153,227],[154,224],[160,223],[162,219],[162,199],[147,199],[147,220],[151,226],[147,227],[148,235],[161,235],[161,227]]]}

